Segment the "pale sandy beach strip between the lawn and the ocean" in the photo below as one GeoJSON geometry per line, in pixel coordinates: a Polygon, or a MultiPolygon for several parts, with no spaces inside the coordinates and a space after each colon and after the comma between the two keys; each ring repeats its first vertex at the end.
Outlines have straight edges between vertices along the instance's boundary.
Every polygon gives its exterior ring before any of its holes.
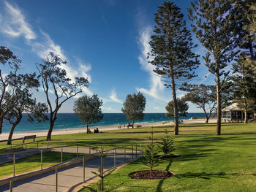
{"type": "MultiPolygon", "coordinates": [[[[189,120],[183,120],[182,123],[205,123],[205,119],[189,119],[189,120]]],[[[216,123],[216,119],[210,119],[209,123],[216,123]]],[[[147,126],[163,126],[163,125],[173,125],[173,122],[167,122],[167,121],[159,121],[159,122],[154,122],[154,123],[135,123],[135,128],[136,126],[142,126],[142,127],[147,127],[147,126]]],[[[113,125],[113,126],[97,126],[99,128],[99,131],[107,131],[107,130],[115,130],[118,129],[118,126],[120,125],[113,125]]],[[[94,128],[96,127],[90,127],[91,131],[94,131],[94,128]]],[[[127,128],[121,126],[121,128],[127,128]]],[[[86,127],[84,128],[69,128],[69,129],[60,129],[60,130],[54,130],[53,128],[53,133],[52,135],[61,135],[61,134],[77,134],[77,133],[85,133],[86,127]]],[[[37,135],[37,137],[44,137],[46,136],[48,131],[29,131],[29,132],[23,132],[23,133],[14,133],[12,139],[24,137],[27,135],[37,135]]],[[[8,139],[9,134],[0,134],[0,141],[1,140],[6,140],[8,139]]]]}

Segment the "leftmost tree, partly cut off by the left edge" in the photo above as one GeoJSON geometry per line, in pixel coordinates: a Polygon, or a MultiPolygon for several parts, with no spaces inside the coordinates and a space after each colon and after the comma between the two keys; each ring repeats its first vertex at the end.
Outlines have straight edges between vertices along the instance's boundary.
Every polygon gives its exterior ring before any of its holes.
{"type": "MultiPolygon", "coordinates": [[[[10,94],[11,96],[15,94],[16,89],[8,89],[10,83],[18,82],[17,71],[20,69],[20,59],[18,59],[10,49],[7,47],[0,46],[0,134],[2,129],[2,124],[4,120],[4,116],[12,110],[12,107],[15,106],[16,100],[12,100],[9,102],[6,100],[6,94],[10,94]],[[3,74],[2,69],[7,70],[3,74]],[[7,105],[9,103],[9,105],[7,105]]],[[[19,84],[20,85],[20,84],[19,84]]]]}

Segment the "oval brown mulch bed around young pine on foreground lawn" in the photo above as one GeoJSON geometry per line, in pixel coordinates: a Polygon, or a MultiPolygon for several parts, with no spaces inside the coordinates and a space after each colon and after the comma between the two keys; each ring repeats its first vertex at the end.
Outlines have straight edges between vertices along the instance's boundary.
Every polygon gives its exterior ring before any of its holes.
{"type": "Polygon", "coordinates": [[[167,171],[159,170],[144,170],[139,172],[132,172],[129,174],[129,177],[136,180],[157,180],[157,179],[166,179],[167,177],[173,177],[175,174],[167,171]]]}

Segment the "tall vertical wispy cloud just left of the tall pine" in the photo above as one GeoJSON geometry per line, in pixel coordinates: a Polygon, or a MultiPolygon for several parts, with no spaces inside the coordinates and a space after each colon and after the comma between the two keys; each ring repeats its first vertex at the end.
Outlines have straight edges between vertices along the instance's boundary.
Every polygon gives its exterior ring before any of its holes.
{"type": "Polygon", "coordinates": [[[152,29],[150,27],[145,28],[143,31],[140,31],[140,51],[141,55],[139,56],[139,62],[143,70],[148,72],[150,76],[150,88],[136,88],[137,91],[140,91],[141,93],[145,93],[148,96],[153,97],[154,99],[157,99],[159,101],[166,101],[165,98],[159,94],[159,91],[164,90],[163,82],[161,81],[161,78],[158,77],[156,74],[154,74],[153,70],[155,69],[155,66],[152,64],[149,64],[148,61],[151,61],[150,58],[147,58],[148,53],[151,52],[151,47],[148,44],[150,40],[150,33],[152,29]]]}

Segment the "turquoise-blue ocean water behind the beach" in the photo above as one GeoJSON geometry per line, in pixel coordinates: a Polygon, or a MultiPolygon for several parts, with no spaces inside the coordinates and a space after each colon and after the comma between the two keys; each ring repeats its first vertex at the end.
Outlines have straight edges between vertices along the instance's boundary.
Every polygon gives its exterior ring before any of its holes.
{"type": "MultiPolygon", "coordinates": [[[[182,119],[190,119],[190,118],[204,118],[204,113],[188,113],[187,117],[182,117],[182,119]]],[[[135,120],[135,123],[152,123],[157,121],[166,121],[173,120],[173,118],[166,118],[165,113],[145,113],[143,120],[135,120]]],[[[90,126],[111,126],[111,125],[124,125],[124,123],[131,123],[131,121],[125,118],[123,113],[105,113],[104,118],[99,121],[99,123],[91,124],[90,126]]],[[[84,128],[86,124],[83,123],[74,113],[59,113],[57,115],[57,120],[54,126],[54,130],[56,129],[67,129],[67,128],[84,128]]],[[[11,125],[4,120],[3,123],[3,133],[10,132],[11,125]]],[[[30,123],[27,121],[27,115],[23,114],[23,118],[16,126],[15,133],[18,132],[27,132],[27,131],[44,131],[48,130],[49,121],[45,122],[33,122],[30,123]]]]}

